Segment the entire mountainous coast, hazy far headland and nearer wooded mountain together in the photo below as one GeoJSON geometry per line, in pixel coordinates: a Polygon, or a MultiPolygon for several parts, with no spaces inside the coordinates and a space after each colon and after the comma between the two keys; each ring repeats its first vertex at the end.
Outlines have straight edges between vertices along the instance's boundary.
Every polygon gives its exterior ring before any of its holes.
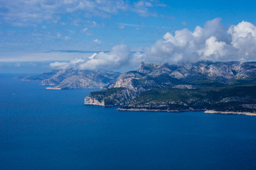
{"type": "Polygon", "coordinates": [[[85,105],[119,111],[232,111],[256,113],[256,62],[145,64],[135,71],[53,70],[22,77],[47,89],[105,89],[85,105]]]}

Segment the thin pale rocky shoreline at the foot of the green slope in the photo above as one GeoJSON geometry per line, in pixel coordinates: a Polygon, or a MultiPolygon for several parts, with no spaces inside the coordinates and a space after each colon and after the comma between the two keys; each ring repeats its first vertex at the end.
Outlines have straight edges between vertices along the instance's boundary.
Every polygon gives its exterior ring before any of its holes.
{"type": "Polygon", "coordinates": [[[203,111],[204,113],[212,113],[212,114],[229,114],[229,115],[251,115],[256,116],[256,113],[250,112],[235,112],[235,111],[213,111],[206,109],[196,109],[196,110],[160,110],[160,109],[147,109],[147,108],[118,108],[117,111],[146,111],[146,112],[170,112],[170,113],[178,113],[178,112],[186,112],[186,111],[203,111]]]}

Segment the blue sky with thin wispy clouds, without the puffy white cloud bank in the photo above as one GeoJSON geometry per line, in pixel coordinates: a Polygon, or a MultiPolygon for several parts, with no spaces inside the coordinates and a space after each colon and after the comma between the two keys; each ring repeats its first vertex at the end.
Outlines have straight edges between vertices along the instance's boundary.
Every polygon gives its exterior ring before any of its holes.
{"type": "Polygon", "coordinates": [[[99,51],[110,57],[107,51],[116,45],[142,52],[166,33],[193,32],[215,18],[221,18],[225,32],[242,21],[255,26],[255,5],[246,0],[0,0],[0,62],[61,62],[99,51]]]}

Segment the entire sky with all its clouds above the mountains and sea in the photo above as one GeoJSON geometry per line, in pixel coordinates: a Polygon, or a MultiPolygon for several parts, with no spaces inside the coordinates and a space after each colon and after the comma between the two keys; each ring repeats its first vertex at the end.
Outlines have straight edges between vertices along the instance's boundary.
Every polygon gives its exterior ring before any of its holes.
{"type": "Polygon", "coordinates": [[[255,6],[247,0],[0,0],[0,72],[255,61],[255,6]]]}

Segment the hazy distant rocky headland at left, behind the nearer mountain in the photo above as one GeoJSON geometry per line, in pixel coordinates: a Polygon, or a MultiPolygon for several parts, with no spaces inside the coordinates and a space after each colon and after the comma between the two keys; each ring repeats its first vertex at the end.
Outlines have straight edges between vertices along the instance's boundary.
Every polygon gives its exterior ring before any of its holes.
{"type": "Polygon", "coordinates": [[[106,89],[114,84],[119,75],[104,69],[60,69],[23,80],[37,80],[41,81],[41,86],[53,86],[48,89],[106,89]]]}

